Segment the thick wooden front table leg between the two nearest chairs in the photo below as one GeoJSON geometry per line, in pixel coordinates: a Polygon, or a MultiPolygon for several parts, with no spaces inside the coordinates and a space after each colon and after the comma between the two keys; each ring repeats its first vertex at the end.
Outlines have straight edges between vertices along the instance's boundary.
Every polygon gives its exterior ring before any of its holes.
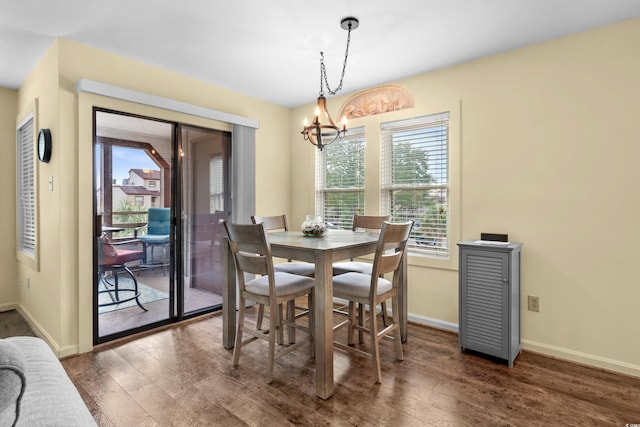
{"type": "Polygon", "coordinates": [[[315,265],[316,395],[328,399],[333,395],[333,267],[330,251],[316,251],[315,265]]]}

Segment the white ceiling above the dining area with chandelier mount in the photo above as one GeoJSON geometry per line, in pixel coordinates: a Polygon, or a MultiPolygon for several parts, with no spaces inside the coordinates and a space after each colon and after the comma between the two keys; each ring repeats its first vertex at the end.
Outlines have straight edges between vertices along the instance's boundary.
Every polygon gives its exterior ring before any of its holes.
{"type": "Polygon", "coordinates": [[[62,37],[295,107],[318,95],[321,51],[338,85],[347,16],[344,93],[638,17],[640,0],[7,0],[0,86],[62,37]]]}

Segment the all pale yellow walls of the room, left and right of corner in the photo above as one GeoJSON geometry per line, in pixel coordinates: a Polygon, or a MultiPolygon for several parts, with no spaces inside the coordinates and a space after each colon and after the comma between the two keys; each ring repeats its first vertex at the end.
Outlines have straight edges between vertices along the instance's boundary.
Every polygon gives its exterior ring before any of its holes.
{"type": "MultiPolygon", "coordinates": [[[[413,94],[415,109],[351,123],[367,127],[366,209],[375,213],[380,122],[451,110],[452,238],[494,231],[524,243],[523,302],[537,295],[541,306],[539,313],[522,312],[524,347],[634,375],[640,375],[640,287],[633,271],[640,237],[639,42],[640,20],[632,20],[393,82],[413,94]]],[[[13,111],[41,98],[42,124],[54,132],[52,162],[40,168],[47,179],[40,179],[39,191],[51,205],[40,237],[43,249],[59,244],[61,255],[42,257],[41,272],[19,267],[9,285],[31,278],[31,290],[21,290],[18,301],[60,354],[91,347],[91,107],[216,126],[76,94],[79,78],[258,119],[257,211],[286,211],[292,226],[314,211],[314,147],[299,133],[311,104],[284,109],[60,40],[21,88],[13,111]],[[48,176],[59,183],[53,192],[48,176]]],[[[346,96],[331,98],[330,111],[346,96]]],[[[10,98],[0,92],[9,107],[10,98]]],[[[0,135],[12,138],[14,130],[2,123],[0,135]]],[[[2,236],[7,240],[7,230],[2,236]]],[[[455,263],[434,268],[416,257],[410,263],[411,318],[455,328],[455,263]]],[[[11,294],[0,291],[0,298],[11,294]]]]}

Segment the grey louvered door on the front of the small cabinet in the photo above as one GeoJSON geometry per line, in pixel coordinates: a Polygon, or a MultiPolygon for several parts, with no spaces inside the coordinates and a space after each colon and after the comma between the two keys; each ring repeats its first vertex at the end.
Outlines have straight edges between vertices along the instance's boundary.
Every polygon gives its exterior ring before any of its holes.
{"type": "Polygon", "coordinates": [[[461,347],[507,359],[508,254],[465,250],[462,266],[461,347]]]}

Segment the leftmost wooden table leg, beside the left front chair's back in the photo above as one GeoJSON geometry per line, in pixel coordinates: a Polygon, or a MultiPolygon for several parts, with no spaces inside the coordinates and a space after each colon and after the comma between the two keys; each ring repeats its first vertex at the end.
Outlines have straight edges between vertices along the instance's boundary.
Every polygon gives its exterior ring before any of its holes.
{"type": "Polygon", "coordinates": [[[233,348],[236,339],[236,269],[227,237],[222,240],[222,345],[233,348]]]}

